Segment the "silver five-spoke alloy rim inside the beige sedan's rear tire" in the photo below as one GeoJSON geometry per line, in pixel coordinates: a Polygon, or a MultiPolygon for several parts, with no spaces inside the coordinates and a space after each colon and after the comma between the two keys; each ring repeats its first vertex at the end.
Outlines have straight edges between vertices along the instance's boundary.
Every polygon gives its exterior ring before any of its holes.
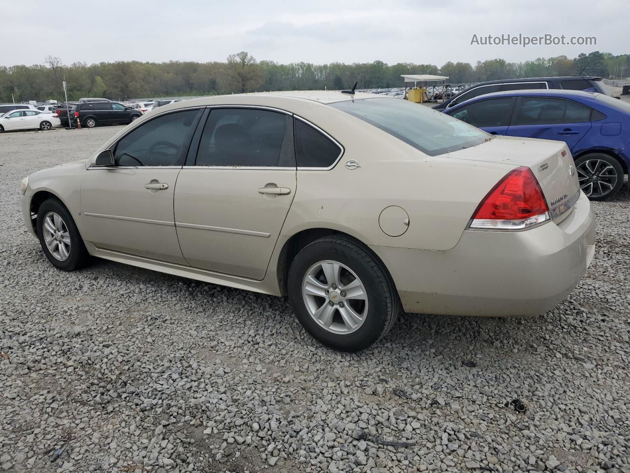
{"type": "Polygon", "coordinates": [[[317,262],[302,281],[302,298],[312,319],[328,332],[351,334],[367,317],[367,291],[357,274],[333,260],[317,262]]]}

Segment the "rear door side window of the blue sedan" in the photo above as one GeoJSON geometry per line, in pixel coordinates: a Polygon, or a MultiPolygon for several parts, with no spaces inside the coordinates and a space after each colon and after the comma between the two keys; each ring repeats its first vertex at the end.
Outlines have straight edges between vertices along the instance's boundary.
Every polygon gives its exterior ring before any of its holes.
{"type": "Polygon", "coordinates": [[[512,125],[588,122],[590,110],[563,98],[521,97],[512,125]]]}

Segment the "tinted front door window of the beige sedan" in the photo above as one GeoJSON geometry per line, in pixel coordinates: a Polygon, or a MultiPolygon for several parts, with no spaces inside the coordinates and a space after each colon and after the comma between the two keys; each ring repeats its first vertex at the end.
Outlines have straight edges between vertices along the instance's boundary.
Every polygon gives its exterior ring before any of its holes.
{"type": "Polygon", "coordinates": [[[134,129],[114,149],[117,166],[181,166],[200,110],[161,115],[134,129]]]}

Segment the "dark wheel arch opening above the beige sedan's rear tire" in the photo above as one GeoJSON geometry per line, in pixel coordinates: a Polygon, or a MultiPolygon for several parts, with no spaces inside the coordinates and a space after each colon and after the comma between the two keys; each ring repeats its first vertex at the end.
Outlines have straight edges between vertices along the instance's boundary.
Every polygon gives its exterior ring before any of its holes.
{"type": "Polygon", "coordinates": [[[394,284],[394,290],[396,289],[396,284],[394,283],[394,279],[391,277],[389,273],[389,269],[383,262],[381,258],[377,254],[375,254],[368,245],[362,242],[359,238],[353,237],[349,233],[345,231],[336,230],[335,228],[325,228],[325,227],[315,227],[315,228],[306,228],[304,230],[298,231],[294,233],[283,245],[280,253],[278,254],[278,260],[276,262],[276,276],[278,278],[278,288],[280,289],[280,295],[287,295],[287,281],[289,276],[289,268],[291,267],[291,263],[295,259],[295,256],[302,250],[302,248],[309,245],[309,243],[314,242],[315,240],[319,240],[319,238],[323,237],[345,237],[348,240],[351,240],[354,243],[360,245],[374,260],[376,260],[382,267],[383,271],[386,272],[387,277],[392,284],[394,284]]]}

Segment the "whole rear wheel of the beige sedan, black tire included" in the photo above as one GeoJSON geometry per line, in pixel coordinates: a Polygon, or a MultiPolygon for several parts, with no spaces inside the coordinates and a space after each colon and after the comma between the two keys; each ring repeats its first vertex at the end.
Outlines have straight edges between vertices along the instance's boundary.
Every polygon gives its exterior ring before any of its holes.
{"type": "Polygon", "coordinates": [[[289,299],[302,327],[322,344],[360,351],[391,329],[400,301],[381,262],[356,240],[325,237],[297,254],[289,299]]]}

